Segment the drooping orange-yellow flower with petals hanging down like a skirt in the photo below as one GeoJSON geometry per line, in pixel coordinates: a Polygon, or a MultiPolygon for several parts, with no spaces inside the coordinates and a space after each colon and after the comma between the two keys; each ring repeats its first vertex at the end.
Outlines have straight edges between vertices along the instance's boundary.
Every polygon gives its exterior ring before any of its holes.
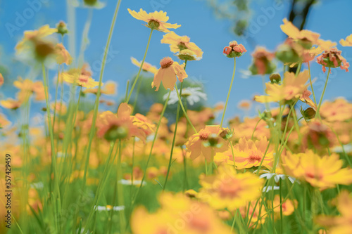
{"type": "Polygon", "coordinates": [[[180,82],[187,78],[188,75],[184,70],[183,66],[177,62],[174,62],[172,58],[166,57],[160,61],[161,68],[154,74],[153,82],[151,82],[151,88],[156,87],[156,91],[159,90],[161,82],[165,89],[174,90],[177,78],[180,82]]]}

